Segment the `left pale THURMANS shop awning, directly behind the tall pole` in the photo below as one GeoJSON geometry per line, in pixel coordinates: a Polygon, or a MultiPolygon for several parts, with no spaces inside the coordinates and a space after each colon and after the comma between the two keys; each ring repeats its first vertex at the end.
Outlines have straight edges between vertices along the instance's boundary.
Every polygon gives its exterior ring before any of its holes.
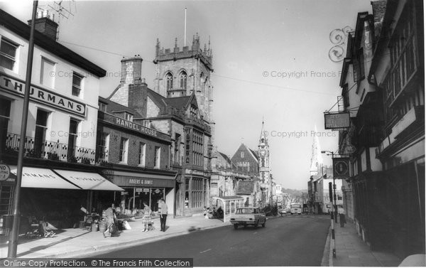
{"type": "MultiPolygon", "coordinates": [[[[10,166],[11,173],[16,176],[16,166],[10,166]]],[[[65,181],[48,168],[32,168],[23,166],[21,187],[25,188],[55,188],[80,189],[65,181]]]]}

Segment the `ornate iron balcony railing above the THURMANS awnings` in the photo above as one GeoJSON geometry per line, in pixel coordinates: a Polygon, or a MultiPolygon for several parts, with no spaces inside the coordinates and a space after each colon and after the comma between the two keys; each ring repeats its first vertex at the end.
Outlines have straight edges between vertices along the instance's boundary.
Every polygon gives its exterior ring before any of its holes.
{"type": "MultiPolygon", "coordinates": [[[[0,144],[2,152],[6,155],[18,155],[21,135],[8,133],[4,144],[0,144]]],[[[88,149],[80,146],[69,148],[68,144],[62,144],[59,141],[35,141],[34,137],[26,136],[25,157],[38,159],[50,159],[57,161],[67,161],[70,163],[94,164],[94,149],[88,149]]]]}

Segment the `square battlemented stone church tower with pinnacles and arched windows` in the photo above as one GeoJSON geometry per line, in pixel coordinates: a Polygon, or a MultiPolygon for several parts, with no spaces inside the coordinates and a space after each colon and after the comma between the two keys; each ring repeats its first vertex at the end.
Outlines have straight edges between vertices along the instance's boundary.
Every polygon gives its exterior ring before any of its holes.
{"type": "Polygon", "coordinates": [[[173,49],[160,48],[160,41],[157,39],[154,91],[168,98],[195,94],[202,118],[212,124],[212,59],[210,40],[208,47],[204,44],[203,50],[198,33],[193,36],[192,45],[184,46],[182,50],[178,47],[178,38],[175,38],[173,49]]]}

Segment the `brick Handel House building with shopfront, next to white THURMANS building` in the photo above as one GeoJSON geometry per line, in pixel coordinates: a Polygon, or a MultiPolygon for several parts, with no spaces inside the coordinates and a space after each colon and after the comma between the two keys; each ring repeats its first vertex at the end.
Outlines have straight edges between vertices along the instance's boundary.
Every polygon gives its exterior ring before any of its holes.
{"type": "Polygon", "coordinates": [[[136,110],[99,97],[97,163],[105,176],[124,188],[121,196],[113,197],[121,208],[141,210],[146,203],[157,211],[158,200],[164,198],[168,212],[174,214],[170,136],[146,127],[146,121],[138,118],[141,114],[136,110]]]}

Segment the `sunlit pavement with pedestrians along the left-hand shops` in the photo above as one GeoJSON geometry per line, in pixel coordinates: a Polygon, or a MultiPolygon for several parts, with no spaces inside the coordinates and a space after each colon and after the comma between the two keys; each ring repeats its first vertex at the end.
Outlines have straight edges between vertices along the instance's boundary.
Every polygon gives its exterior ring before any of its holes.
{"type": "MultiPolygon", "coordinates": [[[[16,257],[23,258],[65,258],[84,257],[91,254],[102,254],[109,250],[119,250],[132,245],[158,241],[178,235],[185,235],[196,230],[206,230],[229,225],[218,219],[206,219],[202,215],[173,218],[168,217],[165,232],[160,231],[160,218],[154,218],[154,230],[143,232],[141,219],[130,221],[131,230],[123,230],[118,237],[104,237],[102,232],[91,232],[80,228],[55,231],[54,237],[18,238],[16,257]]],[[[0,243],[0,259],[7,257],[6,241],[0,243]]]]}

